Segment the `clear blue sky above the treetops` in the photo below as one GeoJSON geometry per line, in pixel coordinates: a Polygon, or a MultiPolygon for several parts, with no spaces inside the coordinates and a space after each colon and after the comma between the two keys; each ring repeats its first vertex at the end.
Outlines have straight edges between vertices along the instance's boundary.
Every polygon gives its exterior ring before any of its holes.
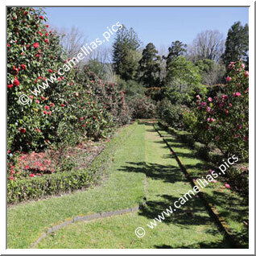
{"type": "MultiPolygon", "coordinates": [[[[123,23],[134,27],[144,46],[169,46],[172,41],[191,43],[197,33],[218,30],[225,37],[236,21],[248,23],[247,7],[47,7],[48,23],[55,27],[76,26],[89,42],[123,23]]],[[[109,40],[109,46],[112,39],[109,40]]],[[[107,44],[107,43],[105,43],[107,44]]]]}

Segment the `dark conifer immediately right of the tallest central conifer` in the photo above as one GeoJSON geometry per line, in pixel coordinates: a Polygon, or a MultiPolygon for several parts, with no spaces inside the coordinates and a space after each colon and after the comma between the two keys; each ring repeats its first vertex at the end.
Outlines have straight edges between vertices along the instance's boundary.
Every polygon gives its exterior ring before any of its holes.
{"type": "Polygon", "coordinates": [[[159,83],[160,56],[157,56],[157,53],[155,45],[148,43],[142,52],[141,60],[138,62],[138,70],[142,73],[139,80],[147,87],[153,87],[159,83]]]}

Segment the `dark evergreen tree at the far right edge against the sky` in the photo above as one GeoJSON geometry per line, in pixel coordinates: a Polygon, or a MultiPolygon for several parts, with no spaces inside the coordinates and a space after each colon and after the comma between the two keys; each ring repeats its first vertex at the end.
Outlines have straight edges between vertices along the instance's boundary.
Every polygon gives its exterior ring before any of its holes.
{"type": "Polygon", "coordinates": [[[225,42],[225,52],[223,60],[225,66],[228,67],[230,62],[243,60],[248,65],[249,63],[249,27],[246,24],[244,27],[240,22],[233,23],[229,29],[228,36],[225,42]]]}

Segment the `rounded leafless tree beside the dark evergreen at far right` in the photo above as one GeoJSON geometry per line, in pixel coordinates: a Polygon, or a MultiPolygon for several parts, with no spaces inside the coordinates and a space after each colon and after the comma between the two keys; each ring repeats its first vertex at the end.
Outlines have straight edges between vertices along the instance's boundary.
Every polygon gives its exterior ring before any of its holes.
{"type": "Polygon", "coordinates": [[[225,40],[219,31],[202,31],[196,35],[188,49],[191,60],[215,60],[218,62],[224,52],[225,40]]]}

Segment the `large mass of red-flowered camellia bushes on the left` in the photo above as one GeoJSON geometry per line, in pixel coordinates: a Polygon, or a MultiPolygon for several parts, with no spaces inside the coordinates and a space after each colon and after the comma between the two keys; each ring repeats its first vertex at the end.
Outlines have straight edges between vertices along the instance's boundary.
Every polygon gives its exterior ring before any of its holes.
{"type": "Polygon", "coordinates": [[[22,151],[109,138],[115,126],[130,122],[125,95],[118,86],[104,83],[76,64],[60,76],[59,68],[72,62],[46,22],[42,9],[7,10],[9,180],[14,180],[14,172],[19,176],[14,164],[22,151]],[[43,89],[43,83],[49,86],[43,89]],[[29,101],[25,105],[19,100],[24,94],[29,101]]]}

